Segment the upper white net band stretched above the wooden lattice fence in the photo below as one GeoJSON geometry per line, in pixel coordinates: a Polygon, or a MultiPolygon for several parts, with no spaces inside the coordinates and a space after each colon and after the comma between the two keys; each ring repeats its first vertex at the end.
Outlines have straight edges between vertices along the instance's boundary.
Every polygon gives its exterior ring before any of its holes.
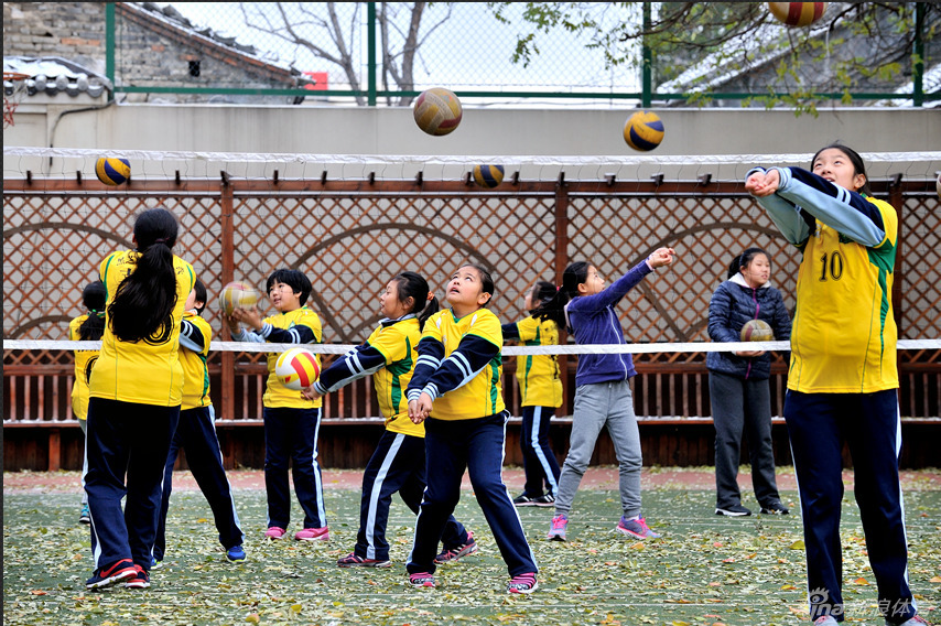
{"type": "MultiPolygon", "coordinates": [[[[134,177],[215,177],[220,170],[247,179],[270,177],[278,170],[284,179],[409,179],[417,171],[426,177],[459,177],[477,163],[501,164],[507,173],[519,172],[523,180],[552,180],[566,172],[570,180],[646,179],[652,173],[669,180],[694,179],[710,173],[714,180],[739,181],[753,165],[799,165],[807,168],[812,153],[791,154],[602,154],[602,155],[494,155],[494,154],[314,154],[278,152],[187,152],[110,150],[78,148],[3,147],[4,179],[24,176],[28,170],[46,175],[73,175],[76,169],[94,169],[102,155],[127,159],[134,177]],[[53,160],[60,160],[53,164],[53,160]]],[[[870,177],[905,174],[933,179],[941,170],[941,152],[862,153],[870,177]]]]}

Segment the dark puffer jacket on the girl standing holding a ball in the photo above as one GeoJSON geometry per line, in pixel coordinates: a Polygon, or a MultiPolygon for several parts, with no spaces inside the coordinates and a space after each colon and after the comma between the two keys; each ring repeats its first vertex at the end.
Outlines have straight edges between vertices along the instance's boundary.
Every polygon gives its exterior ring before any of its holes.
{"type": "MultiPolygon", "coordinates": [[[[724,281],[709,303],[709,336],[714,342],[740,342],[742,326],[749,320],[764,320],[775,332],[775,341],[791,338],[791,317],[781,292],[766,282],[751,288],[740,273],[724,281]]],[[[743,349],[745,346],[743,346],[743,349]]],[[[767,380],[771,376],[771,355],[736,356],[731,352],[709,353],[706,367],[748,380],[767,380]]]]}

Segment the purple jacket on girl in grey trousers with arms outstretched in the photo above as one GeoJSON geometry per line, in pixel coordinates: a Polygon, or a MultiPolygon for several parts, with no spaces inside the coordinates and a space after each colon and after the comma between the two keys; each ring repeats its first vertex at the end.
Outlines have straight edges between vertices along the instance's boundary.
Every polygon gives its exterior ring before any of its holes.
{"type": "MultiPolygon", "coordinates": [[[[634,285],[652,271],[647,260],[643,260],[601,293],[573,298],[565,306],[565,313],[570,332],[575,336],[575,343],[578,345],[626,344],[624,330],[620,327],[620,320],[614,307],[634,285]]],[[[636,374],[634,359],[627,353],[582,354],[578,355],[575,385],[627,380],[636,374]]]]}

